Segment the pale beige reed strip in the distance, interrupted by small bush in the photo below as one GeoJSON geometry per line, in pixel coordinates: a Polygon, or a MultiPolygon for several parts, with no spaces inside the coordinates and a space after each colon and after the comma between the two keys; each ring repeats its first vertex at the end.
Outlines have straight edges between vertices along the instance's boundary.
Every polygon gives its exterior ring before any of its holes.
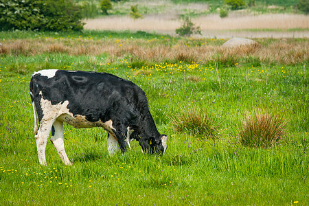
{"type": "MultiPolygon", "coordinates": [[[[112,16],[98,19],[84,20],[86,29],[91,30],[143,30],[170,31],[174,34],[180,27],[179,17],[169,18],[170,14],[145,16],[144,19],[133,20],[128,16],[112,16]]],[[[227,18],[220,18],[218,14],[211,14],[192,19],[201,30],[245,30],[245,29],[291,29],[308,28],[309,19],[301,14],[239,14],[231,13],[227,18]]]]}

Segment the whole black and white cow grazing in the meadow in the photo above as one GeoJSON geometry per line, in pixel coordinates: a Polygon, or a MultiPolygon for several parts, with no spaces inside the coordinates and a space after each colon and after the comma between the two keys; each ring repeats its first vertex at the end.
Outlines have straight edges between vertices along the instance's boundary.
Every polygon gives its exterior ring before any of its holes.
{"type": "Polygon", "coordinates": [[[146,95],[133,82],[110,73],[48,69],[34,73],[30,95],[38,160],[43,165],[51,132],[60,158],[71,164],[65,153],[63,122],[76,128],[104,128],[110,154],[125,152],[129,141],[136,139],[142,151],[164,155],[167,136],[158,132],[146,95]]]}

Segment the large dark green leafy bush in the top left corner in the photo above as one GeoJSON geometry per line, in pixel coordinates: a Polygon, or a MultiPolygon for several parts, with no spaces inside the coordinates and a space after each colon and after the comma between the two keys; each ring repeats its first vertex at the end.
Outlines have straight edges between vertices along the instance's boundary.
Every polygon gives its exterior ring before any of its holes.
{"type": "Polygon", "coordinates": [[[65,0],[2,0],[1,30],[82,30],[79,7],[65,0]]]}

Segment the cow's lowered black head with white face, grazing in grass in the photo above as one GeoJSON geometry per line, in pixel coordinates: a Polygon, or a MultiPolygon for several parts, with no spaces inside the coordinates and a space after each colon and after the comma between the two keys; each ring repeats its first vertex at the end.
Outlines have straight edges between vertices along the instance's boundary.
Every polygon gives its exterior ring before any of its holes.
{"type": "Polygon", "coordinates": [[[149,139],[146,139],[146,141],[140,141],[139,144],[144,152],[164,155],[166,148],[168,147],[166,144],[167,139],[168,137],[166,135],[161,135],[159,138],[150,137],[149,139]]]}

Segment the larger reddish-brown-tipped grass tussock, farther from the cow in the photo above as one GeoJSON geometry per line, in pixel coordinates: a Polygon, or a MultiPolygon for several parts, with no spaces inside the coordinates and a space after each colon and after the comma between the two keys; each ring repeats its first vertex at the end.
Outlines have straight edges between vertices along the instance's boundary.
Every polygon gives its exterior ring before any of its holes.
{"type": "Polygon", "coordinates": [[[253,111],[244,117],[238,138],[244,146],[268,148],[286,134],[287,124],[282,116],[264,110],[253,111]]]}

